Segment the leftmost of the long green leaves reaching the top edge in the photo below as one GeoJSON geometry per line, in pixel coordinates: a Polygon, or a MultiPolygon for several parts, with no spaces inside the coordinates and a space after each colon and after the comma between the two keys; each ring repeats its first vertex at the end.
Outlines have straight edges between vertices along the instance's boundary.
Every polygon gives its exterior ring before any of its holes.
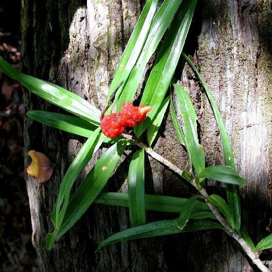
{"type": "MultiPolygon", "coordinates": [[[[119,61],[115,75],[113,77],[110,90],[108,93],[107,102],[110,95],[116,89],[117,85],[126,81],[131,70],[136,64],[139,54],[142,52],[142,48],[145,44],[147,36],[150,32],[152,19],[157,9],[158,0],[147,0],[142,13],[136,23],[133,33],[126,45],[126,48],[119,61]]],[[[122,91],[123,85],[120,87],[119,92],[122,91]]]]}

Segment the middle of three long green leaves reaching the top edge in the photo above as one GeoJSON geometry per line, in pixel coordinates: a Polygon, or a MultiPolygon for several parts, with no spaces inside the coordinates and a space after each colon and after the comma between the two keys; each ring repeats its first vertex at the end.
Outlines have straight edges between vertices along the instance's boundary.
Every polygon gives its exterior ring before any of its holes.
{"type": "MultiPolygon", "coordinates": [[[[173,19],[175,13],[177,12],[181,2],[182,0],[165,0],[156,15],[154,16],[148,37],[137,59],[136,65],[132,69],[128,80],[122,86],[123,92],[121,92],[120,90],[117,93],[117,97],[119,97],[117,111],[120,110],[120,107],[123,105],[124,102],[133,100],[137,87],[146,68],[146,64],[156,50],[163,34],[169,27],[170,22],[173,19]]],[[[135,46],[137,46],[137,44],[135,46]]]]}

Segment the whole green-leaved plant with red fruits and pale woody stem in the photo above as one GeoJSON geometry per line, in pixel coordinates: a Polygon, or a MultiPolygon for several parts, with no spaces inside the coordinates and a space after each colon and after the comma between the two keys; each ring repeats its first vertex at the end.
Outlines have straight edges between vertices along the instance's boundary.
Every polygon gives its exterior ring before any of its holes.
{"type": "Polygon", "coordinates": [[[255,246],[241,224],[237,186],[245,185],[245,180],[239,177],[235,170],[230,141],[215,100],[191,60],[182,53],[196,3],[197,0],[164,0],[157,9],[158,0],[146,1],[135,30],[119,61],[109,88],[107,107],[102,112],[60,86],[18,72],[0,58],[0,69],[4,73],[44,100],[73,114],[72,116],[31,111],[27,113],[28,117],[87,138],[62,180],[51,215],[53,229],[46,238],[47,249],[50,250],[54,242],[64,235],[95,202],[129,207],[134,225],[130,229],[105,239],[100,243],[99,248],[135,238],[220,229],[240,244],[243,251],[261,271],[269,271],[258,258],[258,251],[272,247],[272,235],[262,239],[255,246]],[[137,87],[147,62],[158,48],[162,38],[163,42],[143,90],[140,106],[136,107],[132,101],[137,87]],[[184,88],[177,84],[173,84],[177,98],[175,105],[172,93],[168,94],[181,56],[193,69],[210,102],[221,135],[225,165],[205,167],[205,154],[197,134],[197,115],[190,97],[184,88]],[[188,153],[192,168],[190,172],[179,169],[152,149],[153,141],[169,104],[176,134],[180,144],[188,153]],[[116,113],[112,113],[114,105],[116,105],[116,113]],[[175,107],[181,113],[183,125],[178,120],[175,107]],[[129,130],[125,134],[126,128],[129,130]],[[107,144],[109,149],[98,159],[72,194],[75,181],[102,143],[107,144]],[[127,146],[137,148],[128,170],[128,193],[103,193],[103,187],[114,173],[127,146]],[[198,195],[184,199],[145,194],[145,153],[195,187],[198,195]],[[206,179],[226,184],[227,202],[219,195],[207,194],[206,179]],[[175,220],[146,223],[146,210],[180,215],[175,220]]]}

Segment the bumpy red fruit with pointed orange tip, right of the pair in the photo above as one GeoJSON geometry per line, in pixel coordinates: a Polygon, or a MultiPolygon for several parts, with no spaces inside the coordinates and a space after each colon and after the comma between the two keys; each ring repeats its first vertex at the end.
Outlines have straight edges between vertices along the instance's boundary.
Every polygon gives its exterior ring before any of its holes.
{"type": "Polygon", "coordinates": [[[126,102],[123,104],[120,115],[126,121],[126,125],[129,127],[134,127],[136,124],[140,123],[146,118],[146,115],[152,110],[152,107],[145,107],[140,105],[136,107],[132,102],[126,102]]]}

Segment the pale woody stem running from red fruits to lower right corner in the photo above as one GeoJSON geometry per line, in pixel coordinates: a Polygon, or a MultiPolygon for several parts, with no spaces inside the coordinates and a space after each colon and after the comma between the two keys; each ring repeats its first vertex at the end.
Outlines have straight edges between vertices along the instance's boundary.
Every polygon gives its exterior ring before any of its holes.
{"type": "Polygon", "coordinates": [[[234,231],[231,228],[231,226],[228,224],[228,222],[221,216],[221,213],[218,210],[218,208],[207,200],[208,193],[206,192],[206,190],[203,187],[199,188],[198,185],[196,184],[195,180],[187,173],[187,171],[181,170],[180,168],[178,168],[177,166],[175,166],[174,164],[172,164],[169,160],[165,159],[164,157],[162,157],[158,153],[154,152],[152,148],[148,147],[144,143],[139,142],[139,141],[137,141],[134,138],[132,138],[132,140],[134,141],[134,143],[138,147],[144,149],[144,151],[146,153],[148,153],[151,157],[153,157],[155,160],[157,160],[158,162],[160,162],[163,165],[167,166],[170,170],[173,170],[178,175],[180,175],[181,177],[183,177],[184,179],[186,179],[191,185],[193,185],[200,192],[200,194],[202,196],[204,196],[204,200],[205,200],[206,204],[209,206],[209,208],[211,209],[212,213],[215,215],[215,217],[218,219],[218,221],[221,223],[221,225],[225,228],[225,232],[230,237],[234,238],[240,244],[240,246],[242,247],[242,249],[244,250],[244,252],[246,253],[246,255],[248,255],[250,257],[250,259],[258,267],[258,269],[260,271],[262,271],[262,272],[270,272],[270,270],[259,259],[258,254],[255,253],[250,248],[250,246],[248,245],[248,243],[243,238],[241,238],[239,236],[239,234],[236,231],[234,231]]]}

